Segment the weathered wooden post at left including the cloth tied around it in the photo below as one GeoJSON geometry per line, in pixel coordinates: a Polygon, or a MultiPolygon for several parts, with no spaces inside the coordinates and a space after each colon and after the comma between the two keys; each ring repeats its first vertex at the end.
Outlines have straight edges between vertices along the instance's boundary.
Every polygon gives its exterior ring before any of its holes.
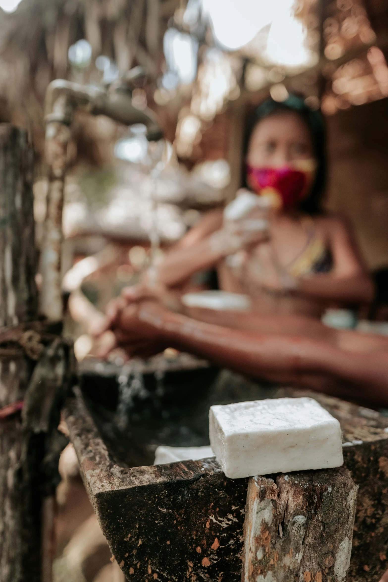
{"type": "Polygon", "coordinates": [[[0,125],[0,580],[50,582],[50,517],[73,384],[61,322],[38,320],[33,151],[0,125]],[[20,416],[19,411],[22,410],[20,416]]]}

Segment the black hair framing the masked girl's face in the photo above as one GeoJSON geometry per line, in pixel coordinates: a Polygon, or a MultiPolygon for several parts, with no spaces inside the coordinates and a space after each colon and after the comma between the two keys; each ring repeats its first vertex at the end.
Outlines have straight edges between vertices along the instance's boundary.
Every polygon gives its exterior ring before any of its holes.
{"type": "Polygon", "coordinates": [[[245,137],[244,137],[244,170],[243,170],[243,183],[245,187],[246,182],[246,171],[245,171],[245,158],[247,157],[248,145],[251,139],[251,135],[258,122],[262,119],[276,113],[278,111],[293,111],[297,113],[307,125],[311,137],[312,144],[314,147],[314,154],[316,161],[318,162],[318,168],[316,169],[316,175],[314,183],[312,184],[311,190],[308,196],[300,203],[299,208],[307,214],[319,214],[322,212],[321,200],[323,191],[326,186],[326,148],[325,148],[325,123],[323,122],[323,117],[320,111],[312,111],[306,104],[302,97],[297,97],[297,95],[289,95],[286,101],[277,102],[273,99],[267,99],[264,101],[254,113],[248,119],[248,123],[245,127],[245,137]]]}

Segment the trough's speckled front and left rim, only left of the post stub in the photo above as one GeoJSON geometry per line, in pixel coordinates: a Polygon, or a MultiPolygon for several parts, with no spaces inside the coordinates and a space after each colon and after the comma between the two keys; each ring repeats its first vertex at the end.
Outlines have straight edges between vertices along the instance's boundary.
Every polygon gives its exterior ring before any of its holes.
{"type": "Polygon", "coordinates": [[[130,580],[240,579],[248,480],[227,479],[214,459],[122,469],[80,398],[65,414],[102,530],[130,580]]]}

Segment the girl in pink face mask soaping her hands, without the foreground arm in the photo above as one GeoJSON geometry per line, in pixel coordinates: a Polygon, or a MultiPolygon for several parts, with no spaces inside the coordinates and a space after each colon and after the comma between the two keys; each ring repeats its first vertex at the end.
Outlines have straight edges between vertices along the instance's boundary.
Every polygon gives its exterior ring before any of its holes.
{"type": "Polygon", "coordinates": [[[264,102],[244,147],[244,186],[261,204],[237,220],[228,208],[209,212],[124,299],[179,297],[194,274],[215,268],[219,288],[248,294],[255,313],[321,318],[328,306],[369,303],[373,284],[351,230],[321,210],[324,143],[321,114],[301,98],[264,102]]]}

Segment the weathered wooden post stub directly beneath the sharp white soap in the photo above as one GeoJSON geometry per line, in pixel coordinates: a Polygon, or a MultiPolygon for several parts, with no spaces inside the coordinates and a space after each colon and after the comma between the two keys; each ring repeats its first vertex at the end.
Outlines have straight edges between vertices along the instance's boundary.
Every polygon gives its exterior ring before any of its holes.
{"type": "Polygon", "coordinates": [[[242,582],[345,580],[357,489],[344,467],[250,478],[242,582]]]}

